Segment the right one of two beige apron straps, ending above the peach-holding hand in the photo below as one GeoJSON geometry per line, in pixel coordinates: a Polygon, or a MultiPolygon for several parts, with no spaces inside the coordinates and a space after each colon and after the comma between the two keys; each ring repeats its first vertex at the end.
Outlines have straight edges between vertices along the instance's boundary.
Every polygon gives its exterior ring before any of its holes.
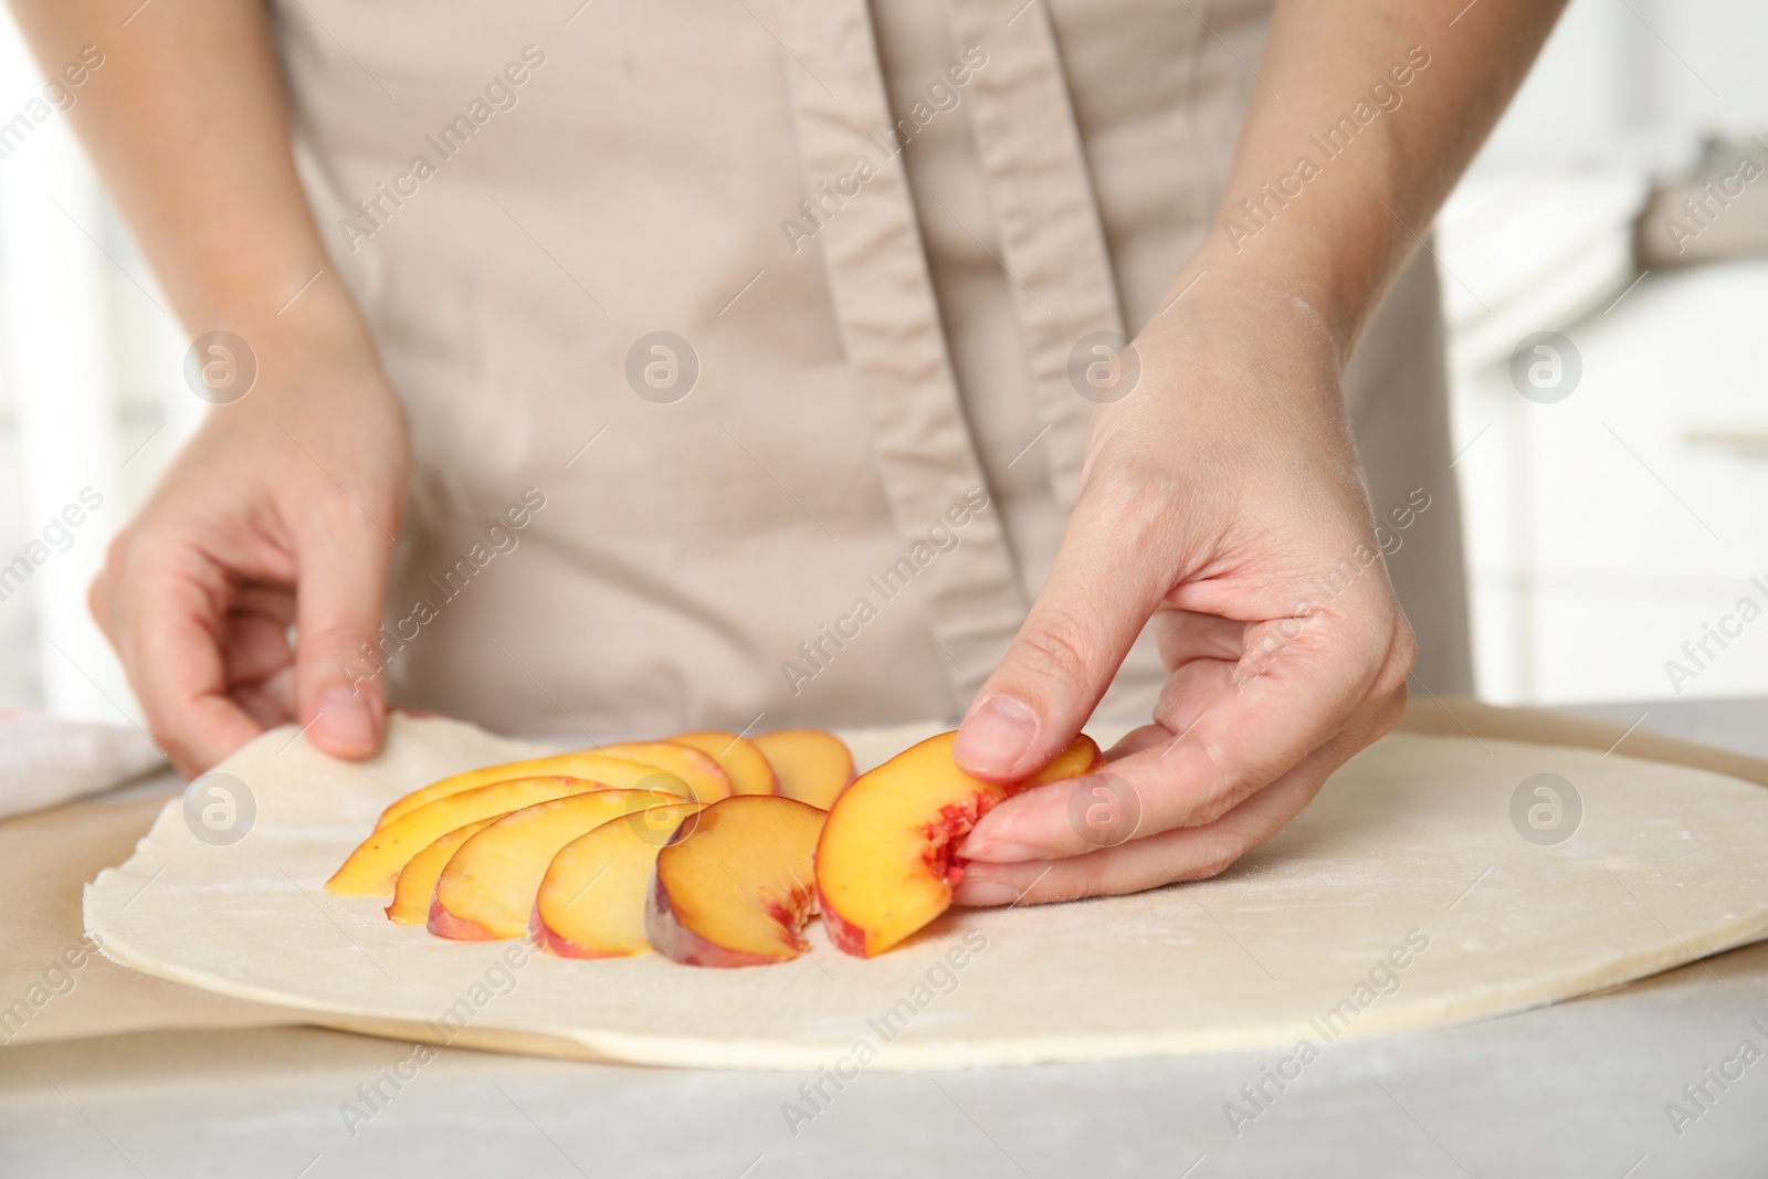
{"type": "Polygon", "coordinates": [[[948,2],[956,42],[988,51],[965,104],[1029,352],[1033,398],[1048,426],[1050,484],[1057,502],[1071,507],[1093,403],[1075,389],[1070,355],[1091,332],[1124,336],[1093,179],[1043,2],[948,2]]]}

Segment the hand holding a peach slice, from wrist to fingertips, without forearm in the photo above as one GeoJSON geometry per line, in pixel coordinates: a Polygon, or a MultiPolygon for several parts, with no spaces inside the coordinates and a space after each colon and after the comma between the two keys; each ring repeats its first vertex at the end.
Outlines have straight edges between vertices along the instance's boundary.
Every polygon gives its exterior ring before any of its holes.
{"type": "Polygon", "coordinates": [[[1406,705],[1414,640],[1340,399],[1342,345],[1282,292],[1204,279],[1135,341],[1055,567],[958,734],[1011,781],[1091,716],[1153,622],[1167,682],[1109,769],[983,817],[962,905],[1209,877],[1276,833],[1406,705]]]}

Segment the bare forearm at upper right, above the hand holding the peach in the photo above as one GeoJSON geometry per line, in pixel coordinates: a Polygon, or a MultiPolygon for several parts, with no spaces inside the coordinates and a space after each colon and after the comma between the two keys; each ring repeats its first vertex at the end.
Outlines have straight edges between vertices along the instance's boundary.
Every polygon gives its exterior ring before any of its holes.
{"type": "Polygon", "coordinates": [[[1563,0],[1280,0],[1197,279],[1301,299],[1340,361],[1563,0]],[[1450,25],[1453,21],[1453,25],[1450,25]]]}

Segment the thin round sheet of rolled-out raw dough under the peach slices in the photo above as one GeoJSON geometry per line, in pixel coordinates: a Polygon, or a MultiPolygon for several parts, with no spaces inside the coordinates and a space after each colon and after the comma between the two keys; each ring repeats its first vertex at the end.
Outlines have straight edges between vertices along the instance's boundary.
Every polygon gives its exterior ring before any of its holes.
{"type": "MultiPolygon", "coordinates": [[[[865,769],[930,732],[849,739],[865,769]]],[[[368,764],[292,737],[265,734],[219,767],[255,795],[244,840],[200,841],[173,801],[122,868],[87,886],[87,928],[108,956],[405,1039],[845,1071],[1322,1048],[1519,1011],[1768,937],[1768,790],[1584,749],[1393,734],[1215,880],[953,910],[870,962],[815,924],[812,953],[776,967],[560,960],[446,942],[387,923],[382,901],[322,887],[394,797],[534,746],[405,716],[368,764]],[[1517,787],[1540,772],[1581,801],[1558,845],[1512,820],[1517,787]]]]}

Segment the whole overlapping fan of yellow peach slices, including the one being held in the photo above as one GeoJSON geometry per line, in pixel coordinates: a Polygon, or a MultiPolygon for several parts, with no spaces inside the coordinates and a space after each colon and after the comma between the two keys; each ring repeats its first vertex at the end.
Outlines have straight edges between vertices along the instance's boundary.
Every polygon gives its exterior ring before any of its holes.
{"type": "Polygon", "coordinates": [[[789,962],[819,912],[840,949],[873,956],[951,905],[955,848],[990,808],[1103,764],[1082,735],[1040,774],[987,783],[951,762],[955,737],[857,780],[847,744],[808,728],[753,741],[702,730],[469,771],[389,806],[325,887],[391,894],[396,924],[451,940],[527,935],[562,958],[789,962]],[[534,767],[635,785],[502,778],[534,767]]]}

